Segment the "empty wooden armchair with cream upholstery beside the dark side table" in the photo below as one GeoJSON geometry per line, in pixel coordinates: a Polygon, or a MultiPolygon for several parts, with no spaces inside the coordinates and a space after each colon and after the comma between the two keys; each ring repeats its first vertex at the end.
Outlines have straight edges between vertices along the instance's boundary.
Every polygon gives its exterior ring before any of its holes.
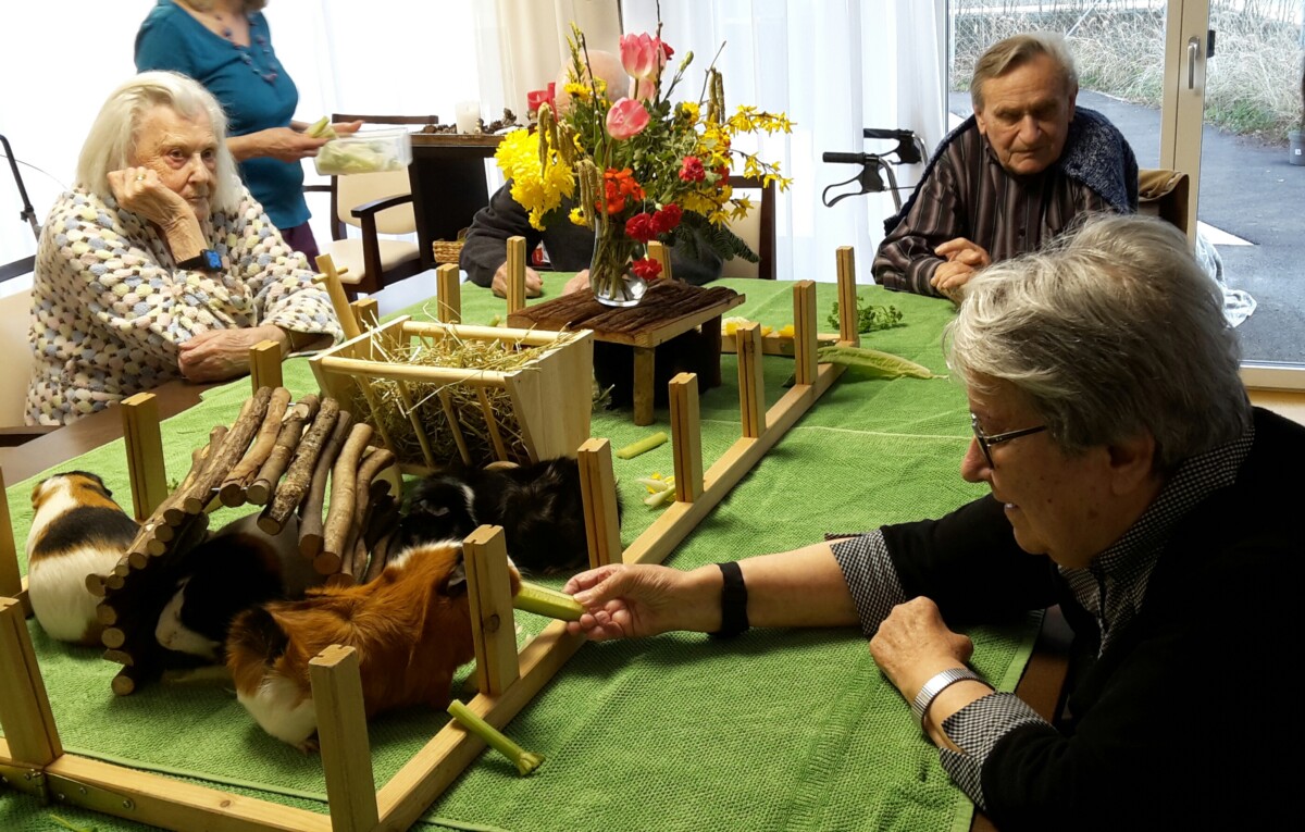
{"type": "MultiPolygon", "coordinates": [[[[440,121],[437,116],[331,115],[335,124],[359,119],[365,121],[364,130],[378,125],[431,125],[440,121]]],[[[318,248],[322,254],[331,256],[338,269],[348,269],[341,275],[341,283],[351,300],[359,292],[371,295],[422,271],[422,252],[416,243],[378,236],[416,232],[412,185],[406,170],[331,176],[329,185],[307,185],[304,190],[330,193],[331,241],[318,248]],[[360,236],[350,237],[348,226],[359,228],[360,236]]]]}

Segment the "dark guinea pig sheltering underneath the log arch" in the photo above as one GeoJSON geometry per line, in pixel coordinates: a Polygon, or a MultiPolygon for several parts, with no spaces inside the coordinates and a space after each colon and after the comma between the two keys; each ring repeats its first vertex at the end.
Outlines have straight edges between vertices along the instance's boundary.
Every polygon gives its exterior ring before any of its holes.
{"type": "Polygon", "coordinates": [[[154,638],[167,649],[221,661],[236,613],[264,601],[303,597],[325,580],[299,553],[299,519],[278,535],[258,514],[227,523],[180,559],[176,593],[163,605],[154,638]]]}

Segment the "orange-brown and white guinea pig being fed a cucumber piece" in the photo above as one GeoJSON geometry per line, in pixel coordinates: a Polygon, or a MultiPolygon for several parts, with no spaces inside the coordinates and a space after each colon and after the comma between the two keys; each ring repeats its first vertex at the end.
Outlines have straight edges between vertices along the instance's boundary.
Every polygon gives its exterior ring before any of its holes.
{"type": "MultiPolygon", "coordinates": [[[[521,576],[509,562],[512,593],[521,576]]],[[[316,749],[317,709],[308,662],[331,644],[358,651],[368,719],[392,708],[444,709],[457,669],[475,657],[459,542],[395,554],[378,578],[309,589],[301,601],[248,609],[227,635],[236,699],[265,732],[316,749]]]]}

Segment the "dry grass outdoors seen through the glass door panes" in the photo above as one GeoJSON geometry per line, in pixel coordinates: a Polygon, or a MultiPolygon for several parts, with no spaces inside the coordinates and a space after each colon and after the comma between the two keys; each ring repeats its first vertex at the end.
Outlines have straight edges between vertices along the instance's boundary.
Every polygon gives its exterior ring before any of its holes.
{"type": "MultiPolygon", "coordinates": [[[[1206,74],[1206,123],[1238,136],[1285,145],[1300,129],[1301,27],[1298,0],[1211,3],[1215,55],[1206,74]]],[[[1066,34],[1079,86],[1160,107],[1164,85],[1163,4],[1066,0],[953,0],[951,86],[967,90],[983,51],[1022,31],[1066,34]],[[1155,7],[1155,8],[1152,8],[1155,7]]]]}

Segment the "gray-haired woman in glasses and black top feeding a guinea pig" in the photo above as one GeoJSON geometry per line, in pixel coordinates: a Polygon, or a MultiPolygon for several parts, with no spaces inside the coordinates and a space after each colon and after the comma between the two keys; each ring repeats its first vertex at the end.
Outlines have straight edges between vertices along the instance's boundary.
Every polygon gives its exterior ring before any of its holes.
{"type": "Polygon", "coordinates": [[[592,640],[860,626],[942,768],[1001,829],[1272,828],[1272,676],[1296,629],[1305,426],[1253,408],[1221,296],[1159,219],[1094,215],[984,269],[946,333],[990,494],[937,519],[692,571],[572,578],[592,640]],[[1275,473],[1276,472],[1276,473],[1275,473]],[[964,627],[1058,604],[1054,722],[971,665],[964,627]],[[1221,672],[1221,673],[1220,673],[1221,672]]]}

